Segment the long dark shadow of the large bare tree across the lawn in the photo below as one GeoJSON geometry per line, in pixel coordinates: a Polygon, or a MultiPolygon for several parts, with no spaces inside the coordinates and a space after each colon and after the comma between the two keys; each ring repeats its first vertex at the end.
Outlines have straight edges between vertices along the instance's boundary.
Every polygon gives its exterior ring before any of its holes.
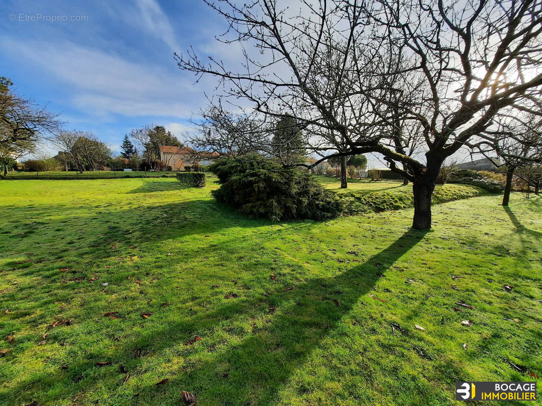
{"type": "MultiPolygon", "coordinates": [[[[293,287],[291,290],[285,290],[287,286],[282,286],[279,280],[268,294],[261,292],[249,297],[240,291],[239,297],[222,302],[218,308],[194,312],[192,317],[172,318],[170,323],[160,324],[158,328],[142,330],[131,342],[119,343],[114,355],[111,352],[89,354],[86,359],[70,361],[67,371],[59,369],[57,374],[42,377],[40,382],[22,381],[1,391],[0,395],[16,398],[16,394],[25,392],[34,396],[29,401],[52,401],[51,398],[40,399],[38,390],[55,384],[62,388],[54,395],[55,400],[85,398],[85,393],[92,393],[101,379],[115,379],[119,384],[110,394],[110,400],[123,404],[177,404],[180,390],[193,392],[205,404],[277,404],[279,392],[293,372],[321,346],[322,340],[352,308],[359,305],[360,298],[375,286],[379,274],[385,273],[425,234],[424,231],[408,231],[365,263],[334,276],[288,286],[293,287]],[[251,331],[241,332],[237,342],[220,342],[217,338],[220,330],[235,329],[240,319],[254,321],[251,331]],[[198,343],[181,344],[196,332],[204,340],[214,337],[214,346],[206,349],[198,343]],[[167,385],[156,387],[156,382],[149,382],[137,388],[136,400],[133,393],[123,389],[118,364],[126,365],[132,375],[138,374],[138,368],[144,368],[145,361],[134,359],[133,354],[142,348],[148,353],[176,353],[186,362],[176,369],[175,376],[169,375],[167,385]],[[111,359],[114,364],[101,368],[98,374],[97,359],[111,359]]],[[[259,277],[261,275],[254,276],[259,277]]]]}

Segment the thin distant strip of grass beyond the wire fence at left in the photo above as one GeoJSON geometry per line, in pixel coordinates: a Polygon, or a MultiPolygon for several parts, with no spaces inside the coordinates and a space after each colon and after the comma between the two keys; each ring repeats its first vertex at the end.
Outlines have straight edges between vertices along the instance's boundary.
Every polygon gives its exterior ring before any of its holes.
{"type": "Polygon", "coordinates": [[[8,172],[7,180],[11,179],[115,179],[115,178],[162,178],[170,176],[175,178],[175,172],[150,172],[150,171],[44,171],[44,172],[8,172]]]}

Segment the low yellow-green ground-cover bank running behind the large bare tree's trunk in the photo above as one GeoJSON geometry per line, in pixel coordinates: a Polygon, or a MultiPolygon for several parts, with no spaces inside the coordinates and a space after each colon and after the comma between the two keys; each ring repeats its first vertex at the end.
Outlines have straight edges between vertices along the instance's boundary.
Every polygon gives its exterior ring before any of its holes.
{"type": "MultiPolygon", "coordinates": [[[[467,199],[485,194],[485,190],[470,185],[438,185],[433,193],[433,204],[467,199]]],[[[414,195],[408,188],[404,192],[348,192],[339,194],[345,214],[383,212],[414,207],[414,195]]]]}

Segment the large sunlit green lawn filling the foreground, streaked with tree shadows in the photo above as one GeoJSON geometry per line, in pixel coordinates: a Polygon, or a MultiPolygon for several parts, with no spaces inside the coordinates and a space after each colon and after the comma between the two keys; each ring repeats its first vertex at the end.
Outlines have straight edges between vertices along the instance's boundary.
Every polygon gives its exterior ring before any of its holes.
{"type": "Polygon", "coordinates": [[[456,380],[542,383],[540,197],[436,205],[416,232],[412,209],[248,219],[215,187],[0,182],[1,405],[449,405],[456,380]]]}

